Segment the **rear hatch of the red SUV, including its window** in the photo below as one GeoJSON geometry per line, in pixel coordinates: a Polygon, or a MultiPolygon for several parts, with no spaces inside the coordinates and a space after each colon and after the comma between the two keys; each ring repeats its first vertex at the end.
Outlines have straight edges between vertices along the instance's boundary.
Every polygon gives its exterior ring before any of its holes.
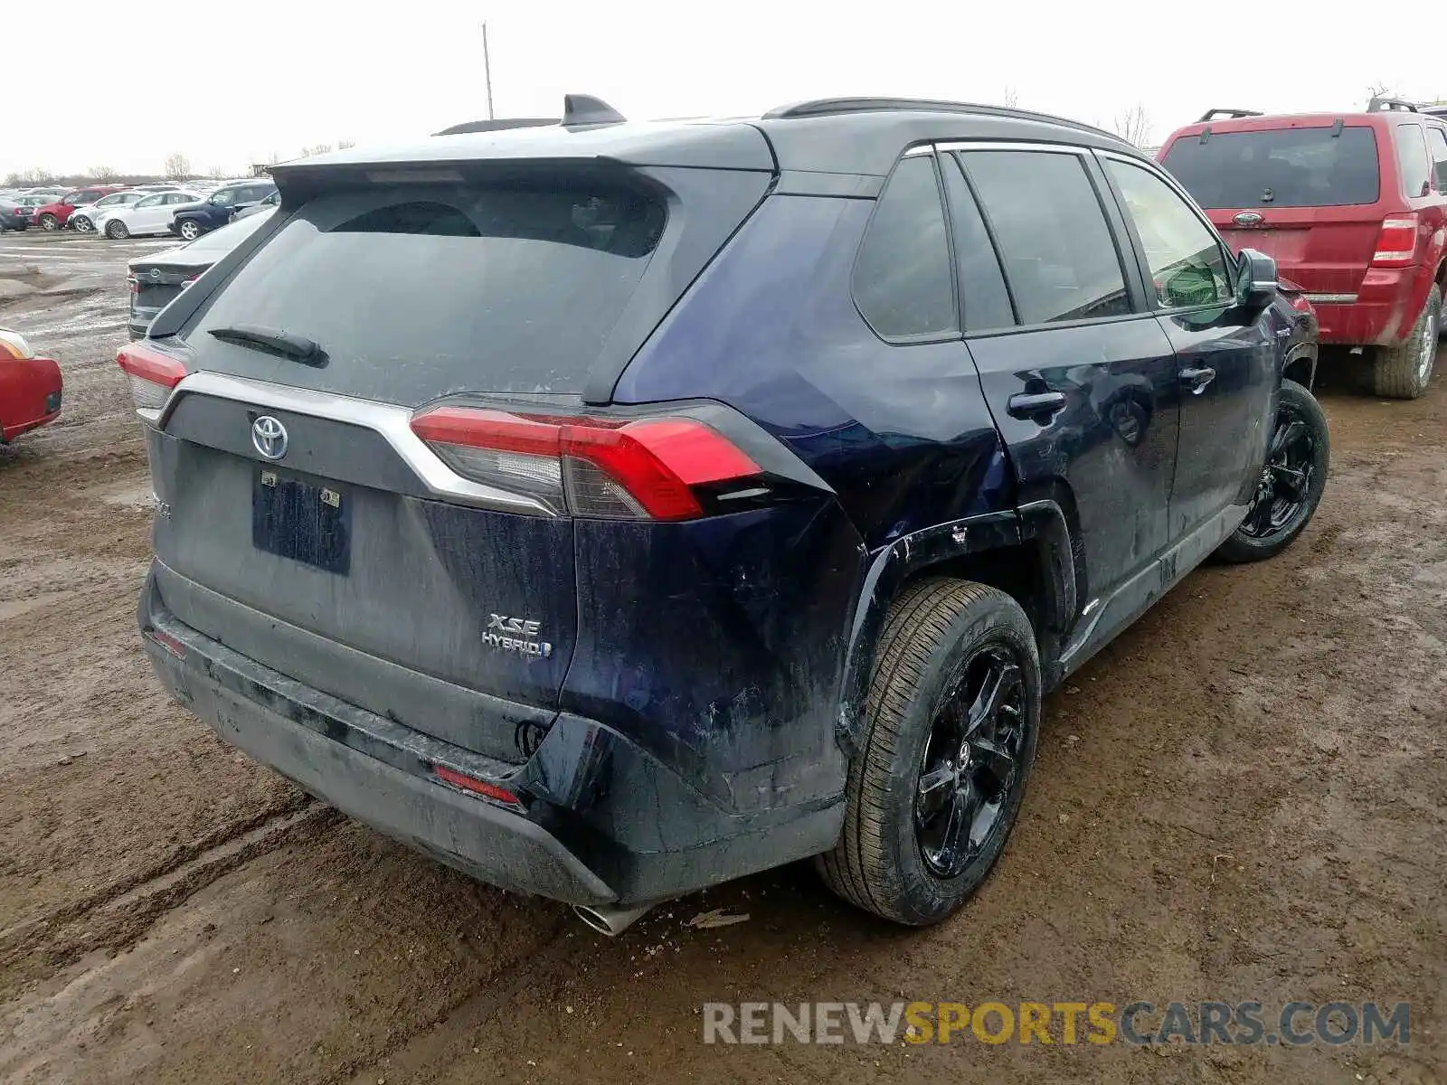
{"type": "Polygon", "coordinates": [[[1354,299],[1383,217],[1401,205],[1391,146],[1350,119],[1192,126],[1160,161],[1234,250],[1275,258],[1317,301],[1354,299]]]}

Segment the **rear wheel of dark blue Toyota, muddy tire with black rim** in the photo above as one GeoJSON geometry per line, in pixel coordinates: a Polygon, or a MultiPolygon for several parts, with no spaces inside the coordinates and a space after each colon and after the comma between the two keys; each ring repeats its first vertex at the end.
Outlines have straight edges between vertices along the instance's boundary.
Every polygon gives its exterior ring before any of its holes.
{"type": "Polygon", "coordinates": [[[1000,856],[1035,761],[1040,661],[1019,603],[967,580],[930,577],[907,587],[884,621],[864,715],[844,830],[816,867],[851,904],[909,926],[938,923],[965,903],[1000,856]],[[967,754],[956,744],[984,703],[977,684],[988,686],[996,673],[993,703],[1000,707],[974,733],[1010,758],[974,745],[967,754]],[[984,801],[991,781],[998,786],[994,800],[984,801]],[[987,819],[980,839],[967,838],[962,849],[933,848],[936,835],[949,839],[959,804],[971,809],[967,793],[978,804],[961,822],[968,817],[975,827],[987,819]],[[941,799],[945,806],[929,812],[941,799]]]}

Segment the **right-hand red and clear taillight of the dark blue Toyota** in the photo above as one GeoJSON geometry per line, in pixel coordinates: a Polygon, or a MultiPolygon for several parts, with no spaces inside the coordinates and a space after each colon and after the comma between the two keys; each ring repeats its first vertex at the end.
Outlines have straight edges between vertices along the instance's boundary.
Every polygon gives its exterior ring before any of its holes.
{"type": "Polygon", "coordinates": [[[438,407],[412,431],[472,482],[527,493],[556,514],[616,519],[702,515],[695,486],[760,467],[692,418],[561,418],[438,407]]]}

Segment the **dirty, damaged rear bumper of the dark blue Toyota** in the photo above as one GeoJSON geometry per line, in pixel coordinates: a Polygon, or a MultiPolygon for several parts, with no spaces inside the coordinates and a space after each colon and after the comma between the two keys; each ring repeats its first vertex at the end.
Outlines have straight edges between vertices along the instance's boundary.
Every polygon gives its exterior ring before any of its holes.
{"type": "Polygon", "coordinates": [[[156,674],[224,741],[343,813],[514,893],[570,904],[680,895],[828,851],[842,796],[738,816],[635,744],[560,715],[537,752],[508,764],[302,686],[184,625],[155,577],[140,628],[156,674]],[[504,787],[493,804],[436,767],[504,787]]]}

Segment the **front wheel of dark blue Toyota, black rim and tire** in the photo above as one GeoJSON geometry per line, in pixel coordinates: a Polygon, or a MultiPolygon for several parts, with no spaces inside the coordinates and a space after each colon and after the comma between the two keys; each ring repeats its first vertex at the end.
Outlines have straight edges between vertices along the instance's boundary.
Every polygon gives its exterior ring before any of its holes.
{"type": "Polygon", "coordinates": [[[1256,498],[1215,557],[1231,563],[1262,561],[1289,547],[1317,514],[1330,461],[1331,433],[1321,405],[1295,380],[1282,380],[1276,428],[1256,498]],[[1291,437],[1294,424],[1304,427],[1310,448],[1301,450],[1291,437]]]}

